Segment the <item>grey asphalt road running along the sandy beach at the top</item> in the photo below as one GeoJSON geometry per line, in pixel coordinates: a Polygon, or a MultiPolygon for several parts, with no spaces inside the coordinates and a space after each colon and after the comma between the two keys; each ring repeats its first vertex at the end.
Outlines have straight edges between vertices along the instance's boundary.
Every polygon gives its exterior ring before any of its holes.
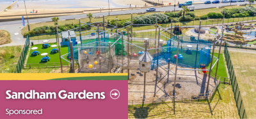
{"type": "MultiPolygon", "coordinates": [[[[247,1],[246,2],[237,2],[237,3],[231,3],[232,5],[237,5],[237,4],[249,4],[247,1]]],[[[205,9],[205,8],[215,8],[217,6],[229,6],[230,3],[217,3],[217,4],[194,4],[195,10],[198,9],[205,9]]],[[[181,10],[178,6],[167,6],[163,8],[156,8],[156,11],[173,11],[175,8],[175,11],[181,10]]],[[[139,9],[139,10],[125,10],[125,11],[111,11],[110,15],[122,15],[122,14],[128,14],[128,13],[139,13],[139,12],[145,12],[146,9],[139,9]]],[[[98,16],[107,16],[109,15],[108,12],[103,12],[103,13],[93,13],[93,17],[98,17],[98,16]]],[[[80,14],[80,15],[67,15],[67,16],[60,16],[60,20],[66,20],[66,19],[72,19],[72,18],[84,18],[86,17],[86,14],[80,14]]],[[[30,19],[28,20],[29,24],[33,23],[38,23],[38,22],[49,22],[51,21],[51,17],[48,18],[36,18],[36,19],[30,19]]],[[[22,25],[22,20],[17,20],[17,21],[11,21],[11,22],[0,22],[0,27],[6,26],[6,25],[22,25]]],[[[25,24],[28,24],[26,18],[25,18],[25,24]]]]}

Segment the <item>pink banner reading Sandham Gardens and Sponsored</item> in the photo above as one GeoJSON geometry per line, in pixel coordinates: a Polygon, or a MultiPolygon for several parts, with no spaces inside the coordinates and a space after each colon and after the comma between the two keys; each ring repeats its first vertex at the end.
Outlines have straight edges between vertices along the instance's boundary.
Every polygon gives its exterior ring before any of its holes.
{"type": "Polygon", "coordinates": [[[127,83],[125,80],[0,81],[0,117],[128,118],[127,83]]]}

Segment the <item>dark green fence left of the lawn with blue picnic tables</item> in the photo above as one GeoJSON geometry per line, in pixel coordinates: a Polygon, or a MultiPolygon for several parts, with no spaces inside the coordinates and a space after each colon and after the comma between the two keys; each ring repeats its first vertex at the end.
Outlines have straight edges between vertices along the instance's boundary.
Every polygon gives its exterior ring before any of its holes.
{"type": "Polygon", "coordinates": [[[18,64],[16,66],[16,69],[15,69],[14,73],[21,73],[21,69],[22,69],[23,64],[24,64],[24,62],[26,60],[26,55],[28,53],[29,45],[30,45],[30,43],[29,43],[29,36],[27,36],[26,43],[25,43],[25,45],[24,45],[24,47],[22,49],[22,52],[20,54],[20,58],[19,58],[19,61],[18,61],[18,64]]]}

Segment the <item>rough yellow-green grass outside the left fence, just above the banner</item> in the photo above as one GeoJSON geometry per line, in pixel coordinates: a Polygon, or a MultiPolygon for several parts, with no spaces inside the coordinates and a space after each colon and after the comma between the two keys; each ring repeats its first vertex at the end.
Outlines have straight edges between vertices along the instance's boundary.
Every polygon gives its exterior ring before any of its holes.
{"type": "Polygon", "coordinates": [[[14,73],[22,46],[0,47],[0,73],[14,73]]]}

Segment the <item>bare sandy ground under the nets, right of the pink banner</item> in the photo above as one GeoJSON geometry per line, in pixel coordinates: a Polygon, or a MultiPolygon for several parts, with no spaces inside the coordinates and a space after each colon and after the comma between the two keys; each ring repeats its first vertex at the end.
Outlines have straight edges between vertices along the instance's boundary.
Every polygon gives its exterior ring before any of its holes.
{"type": "MultiPolygon", "coordinates": [[[[166,65],[167,67],[167,65],[166,65]]],[[[184,68],[184,67],[178,67],[184,68]]],[[[175,71],[175,65],[170,64],[170,70],[175,71]]],[[[170,73],[169,81],[167,82],[166,71],[159,68],[162,74],[158,74],[159,83],[157,83],[156,97],[166,97],[172,95],[173,84],[175,75],[170,73]]],[[[126,70],[124,72],[127,72],[126,70]]],[[[130,70],[130,79],[128,81],[128,99],[142,99],[143,98],[143,84],[144,84],[144,73],[136,70],[130,70]]],[[[179,70],[177,71],[177,81],[176,81],[176,96],[180,97],[182,95],[199,95],[200,92],[205,92],[207,86],[207,75],[198,74],[195,71],[179,70]],[[196,78],[197,76],[197,78],[196,78]],[[180,87],[179,87],[180,86],[180,87]],[[202,91],[201,91],[202,90],[202,91]]],[[[146,99],[154,97],[154,90],[156,84],[156,71],[150,71],[146,74],[146,99]]],[[[216,85],[213,79],[210,80],[209,90],[210,93],[216,85]]]]}

